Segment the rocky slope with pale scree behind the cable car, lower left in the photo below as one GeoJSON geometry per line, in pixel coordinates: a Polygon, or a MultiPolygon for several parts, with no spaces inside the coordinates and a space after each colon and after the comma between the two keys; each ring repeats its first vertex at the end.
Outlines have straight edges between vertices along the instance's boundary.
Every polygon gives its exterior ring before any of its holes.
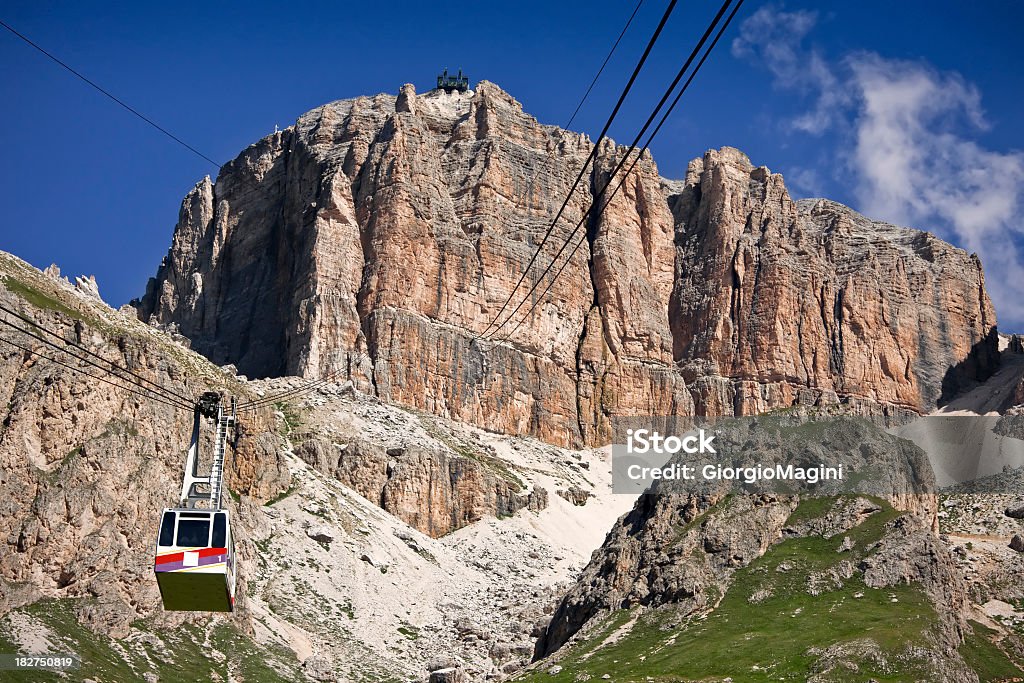
{"type": "MultiPolygon", "coordinates": [[[[252,399],[299,383],[240,381],[3,252],[0,304],[183,395],[252,399]]],[[[6,328],[0,339],[80,365],[6,328]]],[[[165,612],[154,541],[176,504],[190,412],[3,342],[0,399],[0,650],[77,652],[95,680],[500,677],[528,661],[543,607],[631,503],[610,495],[601,452],[331,384],[242,414],[222,500],[237,612],[165,612]],[[559,489],[584,505],[549,501],[559,489]]]]}

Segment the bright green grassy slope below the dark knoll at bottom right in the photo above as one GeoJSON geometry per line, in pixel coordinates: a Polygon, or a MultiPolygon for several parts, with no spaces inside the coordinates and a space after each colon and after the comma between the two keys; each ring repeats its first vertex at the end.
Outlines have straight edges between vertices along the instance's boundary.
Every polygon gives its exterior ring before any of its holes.
{"type": "MultiPolygon", "coordinates": [[[[828,500],[809,500],[794,512],[792,521],[823,514],[828,500]]],[[[807,578],[835,567],[843,560],[854,562],[884,533],[886,522],[897,516],[886,506],[849,536],[853,551],[838,553],[842,537],[790,539],[771,548],[763,557],[736,571],[734,583],[710,614],[669,628],[671,608],[659,608],[640,616],[629,633],[613,644],[600,643],[627,622],[628,613],[614,612],[608,623],[584,642],[567,646],[558,663],[562,671],[550,675],[549,665],[518,679],[521,681],[569,682],[581,673],[600,679],[610,674],[615,681],[705,681],[732,677],[736,681],[803,681],[813,673],[818,657],[814,647],[854,643],[870,639],[881,657],[856,655],[859,671],[849,680],[903,681],[927,679],[922,663],[908,655],[913,645],[927,645],[928,630],[936,613],[924,591],[913,585],[883,590],[868,588],[858,574],[818,596],[806,590],[807,578]],[[780,570],[780,565],[783,570],[780,570]],[[754,604],[750,598],[767,590],[770,597],[754,604]]],[[[850,649],[850,648],[848,648],[850,649]]],[[[980,631],[963,648],[967,660],[982,680],[1014,675],[1016,668],[980,631]]],[[[834,672],[830,680],[846,680],[834,672]]]]}

